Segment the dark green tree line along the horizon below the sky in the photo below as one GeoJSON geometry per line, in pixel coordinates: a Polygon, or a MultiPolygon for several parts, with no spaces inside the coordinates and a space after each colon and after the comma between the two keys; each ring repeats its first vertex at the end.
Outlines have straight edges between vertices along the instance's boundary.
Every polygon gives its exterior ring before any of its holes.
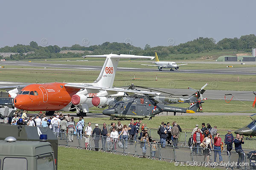
{"type": "Polygon", "coordinates": [[[55,46],[38,46],[38,43],[31,41],[29,45],[17,44],[13,47],[5,46],[0,48],[0,52],[17,52],[17,55],[11,55],[10,60],[23,59],[47,59],[47,58],[75,58],[82,55],[102,55],[110,54],[128,54],[129,51],[134,55],[150,55],[154,56],[157,52],[161,57],[165,58],[172,54],[196,54],[201,52],[209,52],[212,50],[237,50],[244,52],[251,52],[251,49],[256,48],[256,35],[242,35],[240,38],[224,38],[215,42],[213,38],[198,37],[195,40],[186,43],[180,43],[176,46],[156,46],[151,47],[146,44],[145,48],[133,46],[129,43],[105,42],[101,45],[80,46],[75,44],[73,46],[59,47],[55,46]],[[61,50],[82,50],[83,54],[75,54],[68,52],[67,54],[60,54],[61,50]],[[35,53],[24,55],[26,52],[34,51],[35,53]],[[91,51],[92,53],[89,53],[91,51]]]}

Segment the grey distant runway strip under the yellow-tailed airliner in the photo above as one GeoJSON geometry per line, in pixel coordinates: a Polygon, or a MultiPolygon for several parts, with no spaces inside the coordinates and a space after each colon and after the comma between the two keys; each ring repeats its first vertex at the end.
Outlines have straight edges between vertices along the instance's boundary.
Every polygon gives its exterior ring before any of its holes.
{"type": "MultiPolygon", "coordinates": [[[[62,69],[79,69],[81,70],[101,70],[102,66],[84,66],[84,65],[71,65],[71,64],[50,64],[50,63],[29,63],[27,61],[0,61],[1,65],[15,65],[15,66],[34,66],[34,67],[50,67],[50,68],[62,68],[62,69]]],[[[198,66],[199,67],[199,66],[198,66]]],[[[199,67],[200,68],[200,67],[199,67]]],[[[166,72],[172,73],[194,73],[194,74],[225,74],[225,75],[256,75],[256,67],[245,68],[227,68],[227,69],[179,69],[170,71],[169,69],[163,69],[159,71],[157,68],[122,68],[118,67],[118,71],[122,72],[166,72]]]]}

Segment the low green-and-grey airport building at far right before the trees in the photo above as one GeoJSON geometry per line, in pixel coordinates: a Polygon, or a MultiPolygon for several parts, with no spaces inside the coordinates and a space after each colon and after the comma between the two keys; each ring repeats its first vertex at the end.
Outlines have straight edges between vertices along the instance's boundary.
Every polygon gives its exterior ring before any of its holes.
{"type": "Polygon", "coordinates": [[[220,56],[216,61],[256,61],[256,49],[252,50],[252,55],[223,55],[220,56]]]}

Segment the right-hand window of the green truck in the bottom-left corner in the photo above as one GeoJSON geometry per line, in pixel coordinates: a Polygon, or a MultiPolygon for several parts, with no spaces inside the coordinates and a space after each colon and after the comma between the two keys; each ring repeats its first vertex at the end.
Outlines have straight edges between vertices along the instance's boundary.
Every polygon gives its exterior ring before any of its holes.
{"type": "Polygon", "coordinates": [[[54,170],[52,156],[38,158],[36,160],[37,170],[54,170]]]}

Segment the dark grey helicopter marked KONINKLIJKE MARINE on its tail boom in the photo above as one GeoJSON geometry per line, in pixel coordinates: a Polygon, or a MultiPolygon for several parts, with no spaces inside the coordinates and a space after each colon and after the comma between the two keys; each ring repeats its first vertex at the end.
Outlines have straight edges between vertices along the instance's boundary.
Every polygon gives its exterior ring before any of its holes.
{"type": "Polygon", "coordinates": [[[199,104],[204,101],[197,101],[189,108],[172,107],[158,102],[152,96],[134,96],[134,99],[127,101],[118,101],[112,108],[103,110],[103,115],[108,115],[114,118],[153,118],[161,112],[176,112],[195,113],[199,108],[199,104]]]}

